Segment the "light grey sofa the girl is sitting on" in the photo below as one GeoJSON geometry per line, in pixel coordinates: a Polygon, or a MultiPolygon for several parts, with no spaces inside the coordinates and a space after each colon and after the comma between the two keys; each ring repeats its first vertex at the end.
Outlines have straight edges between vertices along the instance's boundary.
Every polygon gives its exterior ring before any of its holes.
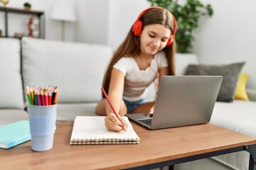
{"type": "MultiPolygon", "coordinates": [[[[58,86],[57,120],[95,115],[100,87],[112,48],[78,42],[0,38],[0,125],[28,120],[26,86],[58,86]]],[[[196,55],[176,55],[176,72],[184,74],[196,55]]],[[[154,87],[147,98],[154,98],[154,87]]],[[[250,93],[255,100],[255,94],[250,93]]],[[[210,123],[256,137],[256,102],[216,102],[210,123]]],[[[247,169],[247,153],[223,155],[175,166],[175,169],[247,169]]]]}

